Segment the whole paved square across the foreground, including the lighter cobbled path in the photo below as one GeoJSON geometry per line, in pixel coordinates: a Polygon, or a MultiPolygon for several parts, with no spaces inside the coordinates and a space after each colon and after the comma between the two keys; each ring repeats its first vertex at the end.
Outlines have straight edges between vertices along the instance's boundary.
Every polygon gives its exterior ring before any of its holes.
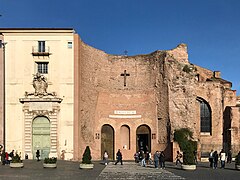
{"type": "Polygon", "coordinates": [[[134,162],[123,162],[105,166],[94,162],[94,169],[79,169],[79,162],[61,161],[56,169],[43,168],[42,161],[25,160],[24,168],[10,168],[0,165],[0,180],[154,180],[154,179],[187,179],[187,180],[239,180],[240,171],[235,170],[234,163],[226,164],[225,169],[211,169],[209,163],[199,163],[197,170],[184,171],[180,165],[166,162],[166,169],[155,169],[153,165],[141,167],[134,162]]]}

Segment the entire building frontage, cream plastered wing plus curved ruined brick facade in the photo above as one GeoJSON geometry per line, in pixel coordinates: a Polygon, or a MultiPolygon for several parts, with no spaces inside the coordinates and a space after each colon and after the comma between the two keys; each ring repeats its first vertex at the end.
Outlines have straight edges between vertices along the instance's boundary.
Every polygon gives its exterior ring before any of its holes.
{"type": "Polygon", "coordinates": [[[219,71],[191,64],[185,44],[146,55],[110,55],[85,44],[73,29],[0,32],[8,43],[7,150],[32,158],[37,149],[58,157],[64,151],[66,159],[80,160],[90,146],[95,160],[105,150],[115,159],[118,149],[129,160],[138,150],[165,151],[172,159],[179,128],[192,130],[199,158],[211,149],[240,149],[236,91],[219,71]],[[42,42],[48,54],[41,52],[42,42]]]}

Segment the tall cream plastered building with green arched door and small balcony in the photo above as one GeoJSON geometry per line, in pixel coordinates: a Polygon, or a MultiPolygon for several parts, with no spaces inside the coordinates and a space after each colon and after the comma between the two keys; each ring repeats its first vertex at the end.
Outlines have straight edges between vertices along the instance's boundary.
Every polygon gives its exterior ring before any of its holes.
{"type": "Polygon", "coordinates": [[[5,58],[6,70],[6,151],[14,149],[36,158],[40,149],[44,158],[59,157],[65,150],[65,159],[72,159],[74,30],[1,28],[0,33],[0,40],[7,43],[5,56],[0,56],[5,58]],[[34,75],[47,83],[34,86],[34,75]]]}

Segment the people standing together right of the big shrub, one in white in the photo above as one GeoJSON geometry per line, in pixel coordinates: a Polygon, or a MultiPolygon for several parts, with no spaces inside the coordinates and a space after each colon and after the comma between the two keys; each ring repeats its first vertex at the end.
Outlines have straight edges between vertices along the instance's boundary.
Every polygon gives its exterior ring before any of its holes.
{"type": "Polygon", "coordinates": [[[225,168],[225,162],[231,163],[232,162],[232,152],[231,150],[226,153],[223,149],[221,152],[218,154],[217,151],[211,150],[209,154],[209,162],[210,162],[210,167],[213,169],[216,169],[218,167],[218,162],[220,160],[220,168],[225,168]]]}

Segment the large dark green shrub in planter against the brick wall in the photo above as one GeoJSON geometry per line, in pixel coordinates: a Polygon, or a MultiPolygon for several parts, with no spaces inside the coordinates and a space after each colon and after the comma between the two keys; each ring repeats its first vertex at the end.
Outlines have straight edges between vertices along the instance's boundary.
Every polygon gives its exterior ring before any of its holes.
{"type": "Polygon", "coordinates": [[[197,151],[197,142],[193,141],[192,131],[188,128],[175,130],[174,141],[179,144],[179,147],[183,152],[183,164],[196,164],[194,153],[197,151]]]}

